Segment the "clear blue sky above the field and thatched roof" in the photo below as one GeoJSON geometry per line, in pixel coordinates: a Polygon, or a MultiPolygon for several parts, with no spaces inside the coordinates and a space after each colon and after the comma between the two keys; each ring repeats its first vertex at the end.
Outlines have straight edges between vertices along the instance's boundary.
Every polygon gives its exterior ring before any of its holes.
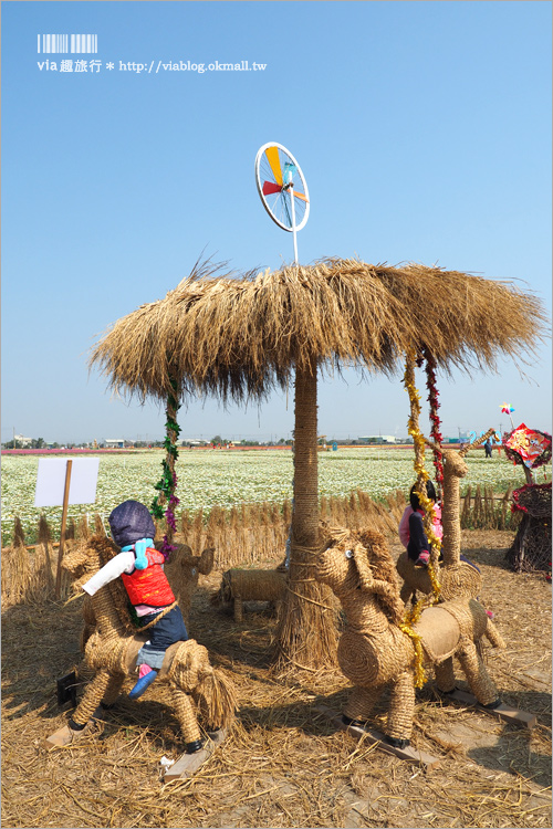
{"type": "MultiPolygon", "coordinates": [[[[523,280],[551,309],[551,3],[2,2],[2,441],[154,439],[164,412],[111,399],[87,351],[165,296],[206,249],[278,267],[292,239],[257,195],[258,148],[296,156],[311,216],[302,262],[357,254],[523,280]],[[38,54],[91,33],[97,54],[38,54]],[[50,71],[46,60],[101,62],[50,71]],[[155,72],[248,60],[260,72],[155,72]],[[143,63],[154,71],[121,71],[143,63]],[[44,63],[42,71],[38,63],[44,63]],[[108,62],[114,70],[106,69],[108,62]]],[[[444,432],[551,431],[551,349],[522,381],[440,379],[444,432]]],[[[400,377],[320,384],[320,433],[407,432],[400,377]]],[[[426,397],[426,396],[425,396],[426,397]]],[[[280,438],[292,390],[261,408],[213,399],[182,437],[280,438]]],[[[422,421],[426,422],[426,421],[422,421]]]]}

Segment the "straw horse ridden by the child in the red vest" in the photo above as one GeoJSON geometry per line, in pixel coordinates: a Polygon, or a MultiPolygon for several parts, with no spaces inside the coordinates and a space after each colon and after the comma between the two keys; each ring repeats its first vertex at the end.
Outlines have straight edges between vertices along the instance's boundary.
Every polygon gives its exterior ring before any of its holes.
{"type": "MultiPolygon", "coordinates": [[[[63,566],[83,584],[97,571],[118,548],[105,536],[93,536],[86,545],[72,550],[63,566]]],[[[79,733],[102,705],[108,709],[117,699],[124,680],[134,673],[136,657],[147,640],[147,632],[136,633],[126,610],[127,599],[121,579],[102,587],[93,597],[96,628],[85,648],[86,663],[95,669],[94,679],[70,721],[79,733]]],[[[230,723],[236,709],[230,681],[209,662],[207,649],[194,639],[176,642],[167,649],[157,682],[169,685],[170,700],[188,752],[201,748],[199,709],[208,732],[230,723]]]]}

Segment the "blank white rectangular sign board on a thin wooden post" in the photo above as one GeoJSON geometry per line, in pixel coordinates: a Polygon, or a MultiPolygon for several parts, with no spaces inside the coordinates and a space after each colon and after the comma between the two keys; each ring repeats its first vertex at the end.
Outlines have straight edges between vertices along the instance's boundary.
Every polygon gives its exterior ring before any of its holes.
{"type": "MultiPolygon", "coordinates": [[[[72,458],[69,504],[93,504],[100,458],[72,458]]],[[[66,458],[40,458],[34,506],[63,506],[66,458]]]]}

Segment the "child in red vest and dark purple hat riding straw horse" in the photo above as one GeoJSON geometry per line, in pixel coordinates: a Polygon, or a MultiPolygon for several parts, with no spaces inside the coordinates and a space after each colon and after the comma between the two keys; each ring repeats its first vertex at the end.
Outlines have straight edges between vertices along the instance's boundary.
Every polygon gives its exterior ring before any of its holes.
{"type": "Polygon", "coordinates": [[[156,528],[148,508],[138,501],[125,501],[115,507],[108,521],[121,553],[83,585],[83,590],[93,596],[121,576],[138,627],[148,627],[149,639],[136,660],[138,682],[128,694],[135,700],[156,679],[167,648],[186,641],[188,632],[164,573],[165,556],[154,547],[156,528]]]}

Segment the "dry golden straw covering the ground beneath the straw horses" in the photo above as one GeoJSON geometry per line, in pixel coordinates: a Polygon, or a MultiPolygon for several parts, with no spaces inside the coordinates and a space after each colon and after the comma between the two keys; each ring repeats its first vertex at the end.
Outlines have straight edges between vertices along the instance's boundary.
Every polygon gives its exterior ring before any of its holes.
{"type": "MultiPolygon", "coordinates": [[[[189,780],[163,784],[180,752],[163,688],[121,697],[97,733],[46,751],[66,721],[55,679],[81,662],[81,600],[8,608],[2,626],[4,827],[542,827],[551,826],[551,587],[505,569],[512,532],[463,531],[481,566],[482,601],[507,651],[487,650],[503,699],[538,715],[533,732],[418,692],[414,744],[444,758],[425,773],[334,732],[314,705],[340,710],[340,674],[279,683],[269,670],[275,620],[253,606],[241,623],[213,609],[221,573],[200,577],[191,634],[229,671],[240,699],[226,743],[189,780]]],[[[400,549],[394,543],[393,550],[400,549]]],[[[274,566],[279,558],[257,562],[274,566]]],[[[82,675],[84,680],[86,674],[82,675]]],[[[460,683],[462,686],[462,683],[460,683]]],[[[125,690],[128,690],[127,688],[125,690]]]]}

